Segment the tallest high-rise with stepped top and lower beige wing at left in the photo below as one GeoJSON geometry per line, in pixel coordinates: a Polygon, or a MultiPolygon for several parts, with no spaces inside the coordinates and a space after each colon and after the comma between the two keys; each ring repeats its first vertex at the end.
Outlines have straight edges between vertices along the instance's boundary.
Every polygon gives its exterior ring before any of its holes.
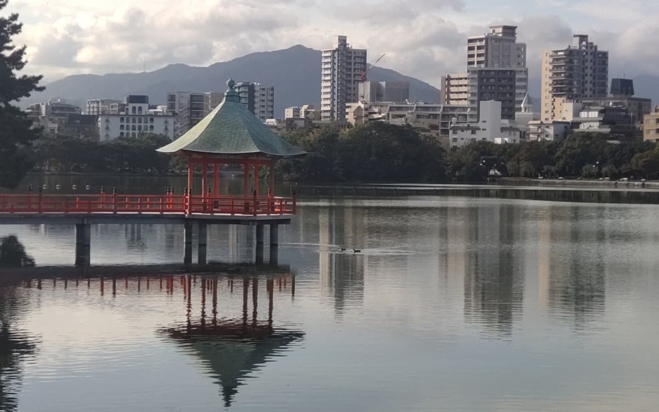
{"type": "Polygon", "coordinates": [[[490,27],[467,40],[467,73],[442,76],[442,103],[466,105],[469,121],[478,121],[480,102],[501,102],[502,119],[514,120],[528,92],[526,44],[517,42],[517,28],[490,27]]]}

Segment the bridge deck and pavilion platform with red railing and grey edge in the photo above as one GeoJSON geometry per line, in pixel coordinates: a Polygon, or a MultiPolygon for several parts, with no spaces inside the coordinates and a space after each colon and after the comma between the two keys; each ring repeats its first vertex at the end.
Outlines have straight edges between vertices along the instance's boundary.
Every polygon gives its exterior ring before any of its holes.
{"type": "Polygon", "coordinates": [[[0,195],[0,224],[290,223],[295,198],[200,195],[0,195]]]}

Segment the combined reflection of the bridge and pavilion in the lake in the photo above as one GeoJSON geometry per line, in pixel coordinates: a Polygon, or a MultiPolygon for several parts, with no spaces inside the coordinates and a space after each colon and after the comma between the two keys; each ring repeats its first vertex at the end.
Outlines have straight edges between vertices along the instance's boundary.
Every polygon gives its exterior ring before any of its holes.
{"type": "MultiPolygon", "coordinates": [[[[212,265],[213,271],[191,274],[172,265],[170,272],[153,274],[153,267],[35,267],[11,275],[28,288],[97,289],[101,296],[134,291],[162,291],[183,296],[186,320],[160,327],[157,332],[185,353],[202,361],[219,384],[224,406],[238,393],[250,373],[282,356],[287,346],[301,341],[304,332],[277,327],[273,319],[274,295],[295,296],[295,274],[289,267],[269,265],[212,265]],[[151,269],[149,273],[148,270],[151,269]],[[241,293],[238,313],[219,310],[234,293],[241,293]],[[199,313],[193,313],[200,308],[199,313]],[[258,308],[267,308],[258,312],[258,308]]],[[[158,267],[163,269],[164,267],[158,267]]],[[[209,269],[208,265],[203,266],[209,269]]],[[[188,267],[189,269],[189,267],[188,267]]]]}

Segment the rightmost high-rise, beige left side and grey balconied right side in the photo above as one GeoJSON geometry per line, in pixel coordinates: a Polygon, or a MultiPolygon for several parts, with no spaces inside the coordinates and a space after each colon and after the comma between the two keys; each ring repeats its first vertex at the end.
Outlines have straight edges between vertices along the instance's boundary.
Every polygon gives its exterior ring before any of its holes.
{"type": "Polygon", "coordinates": [[[607,96],[609,53],[575,35],[576,44],[543,52],[541,120],[560,121],[563,105],[607,96]]]}

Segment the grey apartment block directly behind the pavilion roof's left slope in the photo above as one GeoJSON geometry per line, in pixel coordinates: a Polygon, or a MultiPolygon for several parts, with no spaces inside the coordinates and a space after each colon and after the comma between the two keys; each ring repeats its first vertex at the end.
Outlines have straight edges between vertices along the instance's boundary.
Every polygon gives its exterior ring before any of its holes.
{"type": "Polygon", "coordinates": [[[176,137],[186,133],[222,102],[223,92],[169,92],[167,110],[175,114],[178,122],[176,137]]]}

